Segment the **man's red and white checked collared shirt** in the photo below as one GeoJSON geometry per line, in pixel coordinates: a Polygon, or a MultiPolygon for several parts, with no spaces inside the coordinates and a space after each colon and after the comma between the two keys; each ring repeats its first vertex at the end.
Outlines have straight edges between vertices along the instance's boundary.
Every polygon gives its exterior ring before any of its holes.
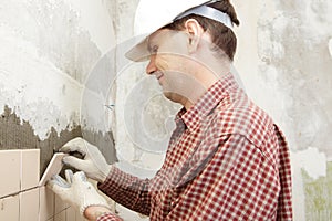
{"type": "MultiPolygon", "coordinates": [[[[292,220],[287,143],[228,74],[176,116],[163,167],[138,179],[115,167],[98,188],[155,220],[292,220]]],[[[98,221],[118,220],[112,214],[98,221]]]]}

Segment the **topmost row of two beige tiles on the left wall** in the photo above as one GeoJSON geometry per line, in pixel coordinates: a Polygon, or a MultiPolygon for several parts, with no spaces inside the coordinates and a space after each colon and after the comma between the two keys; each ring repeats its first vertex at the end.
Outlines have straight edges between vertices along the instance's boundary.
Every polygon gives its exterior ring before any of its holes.
{"type": "Polygon", "coordinates": [[[0,164],[0,198],[38,186],[40,149],[1,150],[0,164]]]}

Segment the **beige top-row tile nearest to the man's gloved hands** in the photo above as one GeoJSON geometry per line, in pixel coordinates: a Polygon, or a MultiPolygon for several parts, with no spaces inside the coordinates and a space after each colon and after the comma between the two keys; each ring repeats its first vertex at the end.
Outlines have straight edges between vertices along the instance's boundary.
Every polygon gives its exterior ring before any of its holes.
{"type": "Polygon", "coordinates": [[[21,190],[35,188],[40,178],[40,149],[21,151],[21,190]]]}

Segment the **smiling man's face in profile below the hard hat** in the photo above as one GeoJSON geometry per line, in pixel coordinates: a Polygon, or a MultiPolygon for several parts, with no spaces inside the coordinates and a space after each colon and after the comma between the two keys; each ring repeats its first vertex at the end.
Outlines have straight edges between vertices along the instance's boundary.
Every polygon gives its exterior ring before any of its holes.
{"type": "Polygon", "coordinates": [[[167,29],[149,36],[149,63],[147,74],[154,74],[163,87],[164,95],[173,102],[190,99],[197,86],[193,75],[193,60],[188,53],[188,35],[167,29]]]}

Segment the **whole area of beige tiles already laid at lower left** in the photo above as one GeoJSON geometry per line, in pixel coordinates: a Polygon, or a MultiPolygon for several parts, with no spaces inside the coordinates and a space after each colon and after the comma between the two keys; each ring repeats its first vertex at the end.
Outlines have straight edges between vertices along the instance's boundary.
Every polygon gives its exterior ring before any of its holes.
{"type": "Polygon", "coordinates": [[[0,150],[0,221],[83,221],[40,180],[40,149],[0,150]]]}

